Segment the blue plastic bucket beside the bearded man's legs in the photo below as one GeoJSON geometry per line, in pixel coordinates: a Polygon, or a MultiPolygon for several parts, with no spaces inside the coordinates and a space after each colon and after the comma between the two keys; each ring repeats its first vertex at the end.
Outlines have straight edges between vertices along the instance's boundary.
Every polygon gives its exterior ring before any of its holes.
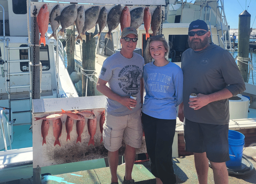
{"type": "Polygon", "coordinates": [[[228,130],[229,158],[226,166],[241,166],[243,156],[243,145],[245,145],[245,136],[234,130],[228,130]]]}

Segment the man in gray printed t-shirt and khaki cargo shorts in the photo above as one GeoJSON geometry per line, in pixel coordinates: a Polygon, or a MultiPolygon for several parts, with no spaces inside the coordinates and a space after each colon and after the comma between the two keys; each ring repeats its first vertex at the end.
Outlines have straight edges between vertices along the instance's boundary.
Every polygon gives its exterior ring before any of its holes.
{"type": "Polygon", "coordinates": [[[122,139],[124,138],[126,144],[123,184],[134,184],[132,169],[136,148],[141,147],[144,59],[133,52],[137,40],[138,34],[135,28],[123,29],[120,39],[122,49],[104,61],[97,82],[98,91],[106,96],[106,120],[102,136],[104,146],[108,150],[111,184],[118,184],[118,150],[122,145],[122,139]],[[130,98],[131,95],[135,95],[136,100],[130,98]]]}

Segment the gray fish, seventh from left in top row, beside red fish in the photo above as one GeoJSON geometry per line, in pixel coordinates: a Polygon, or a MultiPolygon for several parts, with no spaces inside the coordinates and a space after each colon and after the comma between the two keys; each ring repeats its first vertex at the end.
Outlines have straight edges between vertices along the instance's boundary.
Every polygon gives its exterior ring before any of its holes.
{"type": "Polygon", "coordinates": [[[113,7],[110,11],[109,14],[107,15],[107,26],[109,28],[109,31],[105,35],[105,39],[110,39],[112,40],[111,32],[116,29],[116,27],[120,23],[120,17],[122,14],[122,6],[119,4],[115,7],[113,7]]]}

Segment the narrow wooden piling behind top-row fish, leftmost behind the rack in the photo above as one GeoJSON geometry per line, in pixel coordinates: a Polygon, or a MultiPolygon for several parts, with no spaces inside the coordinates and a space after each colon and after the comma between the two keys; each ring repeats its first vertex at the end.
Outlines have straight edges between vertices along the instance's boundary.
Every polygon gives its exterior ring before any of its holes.
{"type": "Polygon", "coordinates": [[[66,29],[66,55],[67,55],[67,70],[70,75],[75,69],[75,26],[72,29],[66,29]]]}

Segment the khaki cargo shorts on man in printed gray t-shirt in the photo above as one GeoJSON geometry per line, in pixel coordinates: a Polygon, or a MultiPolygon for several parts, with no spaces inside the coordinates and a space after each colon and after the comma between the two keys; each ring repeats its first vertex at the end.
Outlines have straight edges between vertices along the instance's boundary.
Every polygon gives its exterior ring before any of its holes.
{"type": "Polygon", "coordinates": [[[140,148],[143,129],[141,125],[141,109],[126,116],[112,116],[105,112],[103,124],[103,142],[108,151],[117,151],[122,146],[122,140],[126,145],[140,148]]]}

